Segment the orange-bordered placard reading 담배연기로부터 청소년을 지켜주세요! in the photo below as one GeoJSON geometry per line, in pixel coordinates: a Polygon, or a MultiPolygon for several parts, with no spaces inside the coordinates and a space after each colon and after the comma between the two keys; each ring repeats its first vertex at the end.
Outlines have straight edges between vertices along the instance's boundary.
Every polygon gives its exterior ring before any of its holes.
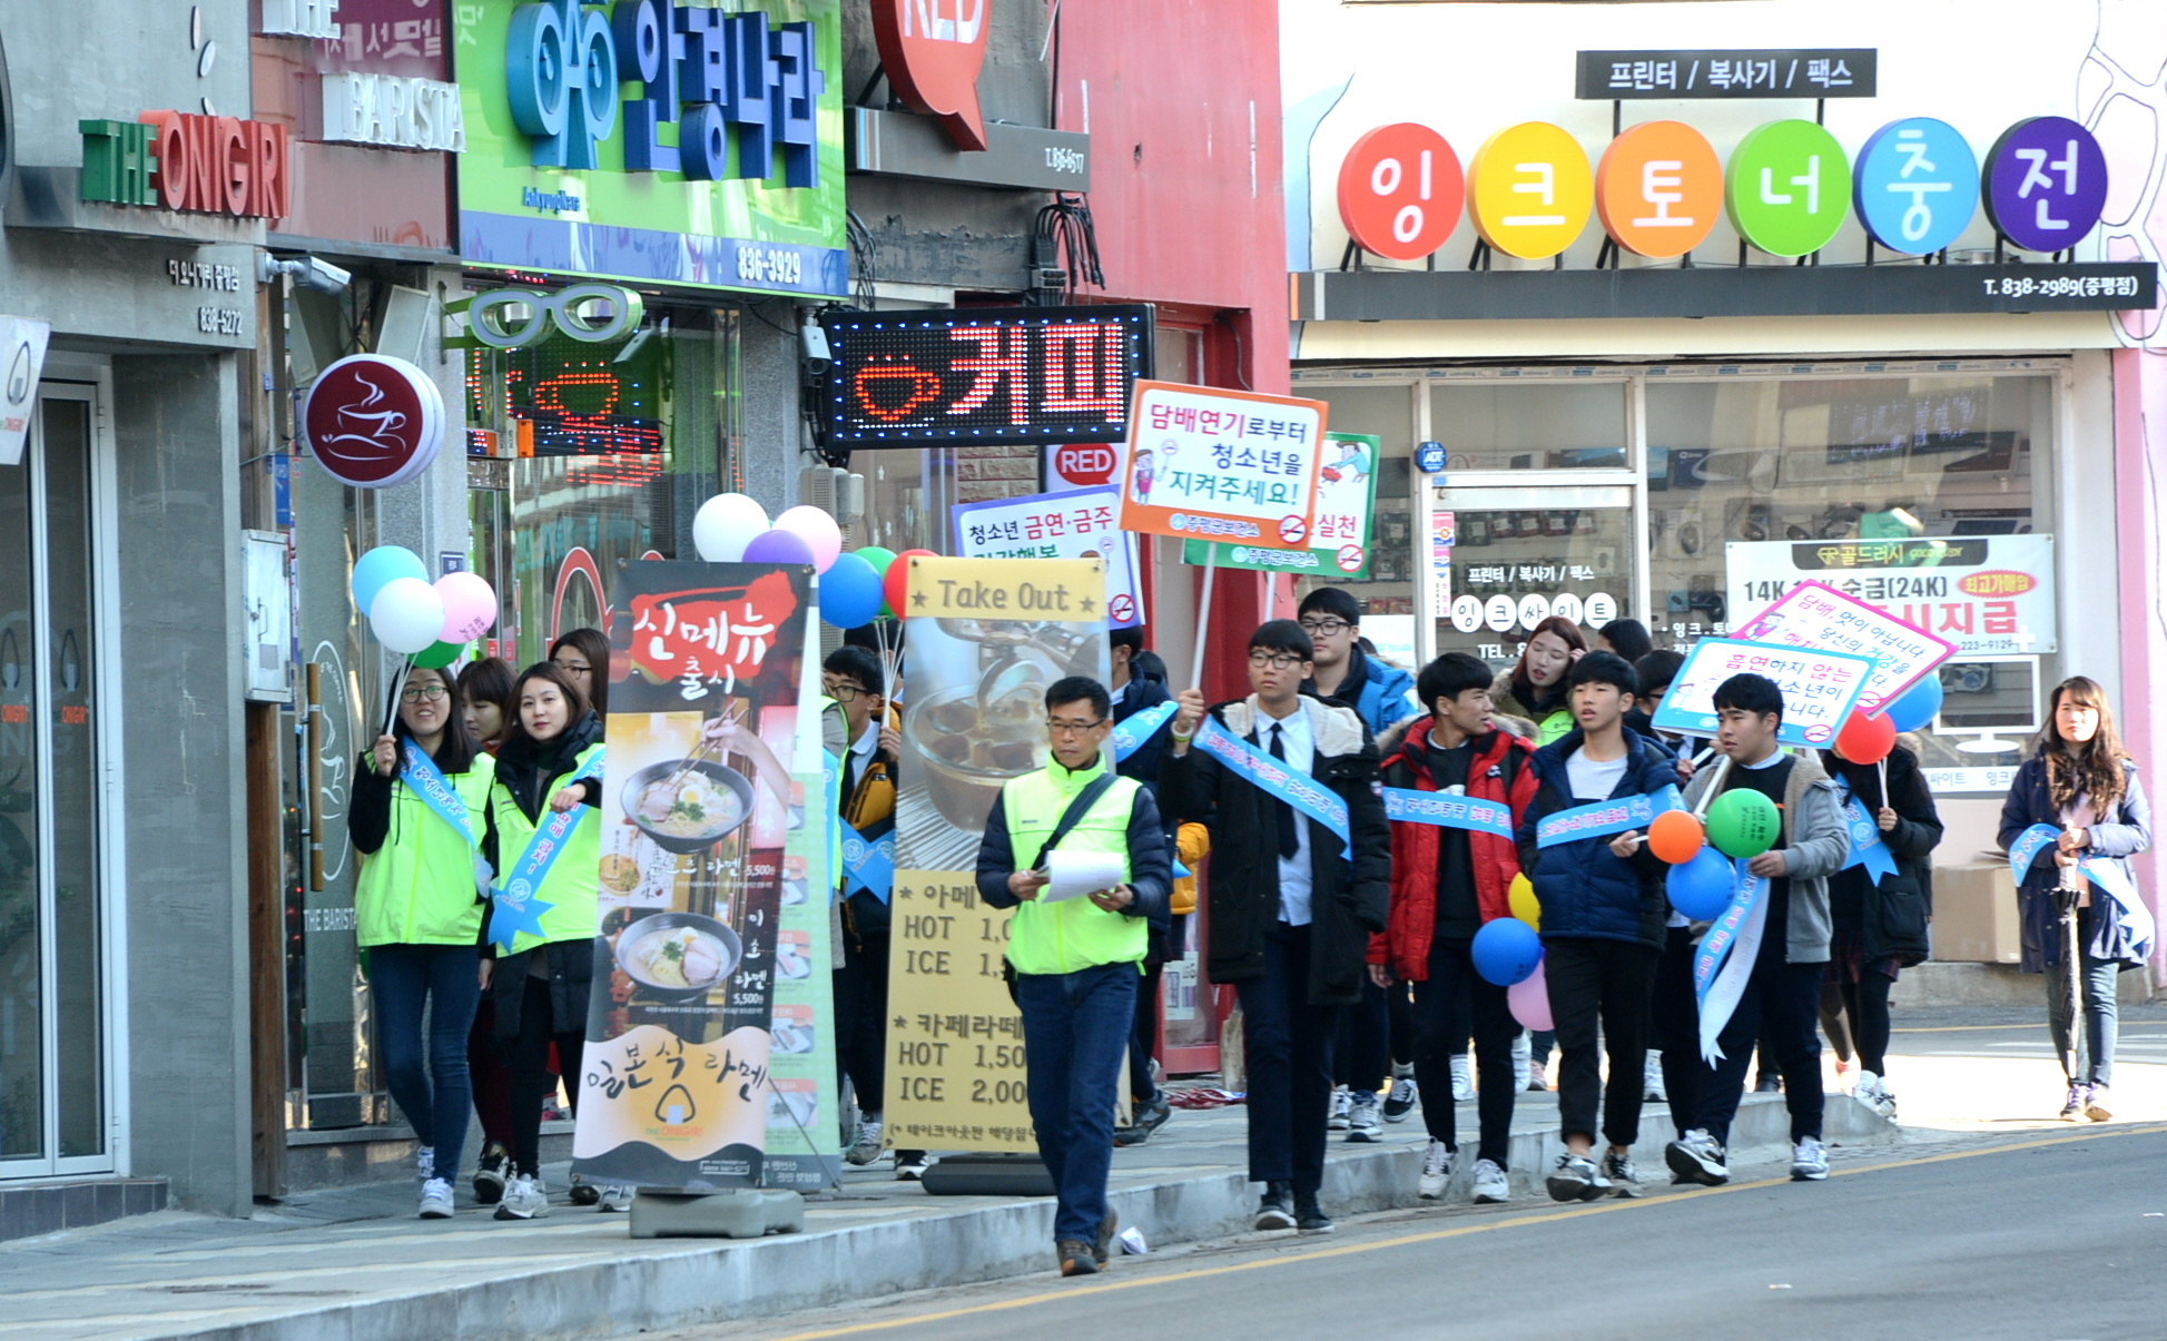
{"type": "Polygon", "coordinates": [[[1324,416],[1324,401],[1138,381],[1120,529],[1309,548],[1324,416]]]}

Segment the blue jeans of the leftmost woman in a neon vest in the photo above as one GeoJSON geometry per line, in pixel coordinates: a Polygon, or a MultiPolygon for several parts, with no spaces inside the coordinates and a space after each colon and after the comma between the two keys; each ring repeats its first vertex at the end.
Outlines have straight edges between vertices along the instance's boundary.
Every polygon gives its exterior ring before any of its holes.
{"type": "Polygon", "coordinates": [[[368,988],[377,1001],[377,1046],[399,1111],[423,1146],[436,1148],[436,1176],[459,1176],[475,1085],[466,1036],[481,1005],[481,960],[472,945],[373,945],[368,988]],[[420,1016],[429,1005],[429,1066],[423,1072],[420,1016]]]}

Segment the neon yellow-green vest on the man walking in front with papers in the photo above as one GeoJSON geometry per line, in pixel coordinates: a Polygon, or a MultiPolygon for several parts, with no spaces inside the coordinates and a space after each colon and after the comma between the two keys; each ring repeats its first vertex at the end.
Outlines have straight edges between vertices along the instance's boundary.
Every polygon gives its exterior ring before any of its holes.
{"type": "MultiPolygon", "coordinates": [[[[1008,815],[1008,845],[1018,871],[1038,867],[1038,851],[1068,812],[1068,802],[1105,773],[1105,758],[1079,773],[1055,760],[1036,773],[1025,773],[1001,789],[1001,810],[1008,815]]],[[[1092,808],[1084,812],[1062,851],[1112,851],[1120,856],[1120,880],[1129,867],[1129,812],[1136,808],[1136,780],[1116,778],[1092,808]]],[[[1008,923],[1008,962],[1016,973],[1077,973],[1097,964],[1136,964],[1144,968],[1151,949],[1151,927],[1140,916],[1107,912],[1090,899],[1016,906],[1008,923]]]]}

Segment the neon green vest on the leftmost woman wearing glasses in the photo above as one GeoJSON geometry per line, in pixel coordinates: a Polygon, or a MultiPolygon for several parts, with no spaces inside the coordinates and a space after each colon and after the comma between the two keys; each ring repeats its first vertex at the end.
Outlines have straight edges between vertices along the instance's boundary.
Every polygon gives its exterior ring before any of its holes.
{"type": "MultiPolygon", "coordinates": [[[[446,773],[444,782],[459,793],[475,838],[481,838],[496,760],[477,752],[472,767],[446,773]]],[[[353,886],[353,921],[362,947],[481,940],[475,847],[397,778],[392,825],[384,847],[362,858],[362,877],[353,886]]]]}

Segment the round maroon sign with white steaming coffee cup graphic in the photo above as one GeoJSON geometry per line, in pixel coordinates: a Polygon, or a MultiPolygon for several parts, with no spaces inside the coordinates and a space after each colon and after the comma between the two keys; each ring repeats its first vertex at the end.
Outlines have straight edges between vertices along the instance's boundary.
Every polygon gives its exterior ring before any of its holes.
{"type": "Polygon", "coordinates": [[[308,388],[301,427],[316,464],[334,479],[388,490],[436,459],[444,444],[444,394],[405,360],[353,353],[308,388]]]}

